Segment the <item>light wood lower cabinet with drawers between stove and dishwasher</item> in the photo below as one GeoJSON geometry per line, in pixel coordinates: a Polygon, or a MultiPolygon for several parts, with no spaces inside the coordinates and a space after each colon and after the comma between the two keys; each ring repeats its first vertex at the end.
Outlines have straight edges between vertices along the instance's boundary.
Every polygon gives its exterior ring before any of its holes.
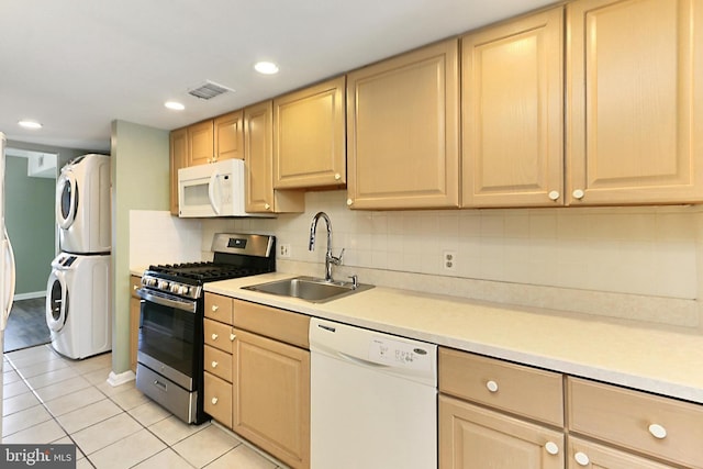
{"type": "Polygon", "coordinates": [[[205,293],[205,412],[294,469],[310,468],[309,321],[205,293]]]}

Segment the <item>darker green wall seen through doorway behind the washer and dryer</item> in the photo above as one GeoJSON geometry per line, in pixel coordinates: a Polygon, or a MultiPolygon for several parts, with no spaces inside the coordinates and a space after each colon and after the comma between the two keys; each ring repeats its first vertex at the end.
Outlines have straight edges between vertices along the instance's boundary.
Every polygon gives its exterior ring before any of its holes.
{"type": "Polygon", "coordinates": [[[15,294],[46,291],[56,246],[56,179],[27,177],[27,163],[5,159],[5,224],[16,263],[15,294]]]}

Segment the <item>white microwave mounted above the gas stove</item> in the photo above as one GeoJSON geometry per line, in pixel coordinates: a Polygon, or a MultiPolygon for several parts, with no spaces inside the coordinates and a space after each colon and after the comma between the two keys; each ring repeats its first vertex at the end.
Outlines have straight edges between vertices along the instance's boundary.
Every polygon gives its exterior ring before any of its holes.
{"type": "Polygon", "coordinates": [[[178,216],[248,216],[244,160],[224,159],[178,170],[178,216]]]}

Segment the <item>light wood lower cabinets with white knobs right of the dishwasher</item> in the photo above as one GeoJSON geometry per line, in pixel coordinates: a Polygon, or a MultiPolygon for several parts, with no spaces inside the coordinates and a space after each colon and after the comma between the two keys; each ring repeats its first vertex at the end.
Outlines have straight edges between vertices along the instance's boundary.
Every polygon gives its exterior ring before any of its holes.
{"type": "Polygon", "coordinates": [[[446,347],[438,370],[442,469],[703,469],[703,405],[446,347]]]}

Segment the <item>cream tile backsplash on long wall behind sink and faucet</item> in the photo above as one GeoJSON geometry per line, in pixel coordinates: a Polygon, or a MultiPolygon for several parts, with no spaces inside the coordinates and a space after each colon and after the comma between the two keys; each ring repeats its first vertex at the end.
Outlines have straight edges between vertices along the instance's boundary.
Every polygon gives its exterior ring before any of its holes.
{"type": "Polygon", "coordinates": [[[202,230],[205,258],[216,232],[271,233],[279,247],[290,245],[290,258],[278,256],[279,270],[322,276],[323,221],[315,250],[308,250],[317,211],[332,220],[334,255],[345,249],[341,275],[361,269],[383,284],[416,283],[429,293],[447,293],[450,286],[449,294],[490,301],[685,326],[700,322],[703,212],[698,206],[353,211],[341,190],[306,193],[302,214],[179,222],[202,230]],[[453,269],[444,266],[447,252],[453,269]],[[621,303],[628,312],[602,311],[621,303]]]}

